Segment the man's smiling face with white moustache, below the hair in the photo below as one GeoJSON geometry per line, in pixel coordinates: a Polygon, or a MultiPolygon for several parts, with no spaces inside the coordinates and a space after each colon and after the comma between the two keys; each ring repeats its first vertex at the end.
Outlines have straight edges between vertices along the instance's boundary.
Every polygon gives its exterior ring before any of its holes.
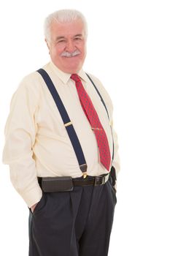
{"type": "MultiPolygon", "coordinates": [[[[47,42],[47,39],[46,39],[47,42]]],[[[58,69],[66,73],[77,73],[85,61],[86,39],[82,20],[57,23],[50,26],[50,42],[47,42],[50,57],[58,69]]]]}

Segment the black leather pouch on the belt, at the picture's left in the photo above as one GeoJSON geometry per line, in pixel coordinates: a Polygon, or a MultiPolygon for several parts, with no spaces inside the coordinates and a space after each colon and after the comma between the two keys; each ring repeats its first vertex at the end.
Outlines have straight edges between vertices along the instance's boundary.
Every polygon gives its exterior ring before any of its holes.
{"type": "Polygon", "coordinates": [[[64,192],[73,190],[72,177],[43,177],[41,187],[44,192],[64,192]]]}

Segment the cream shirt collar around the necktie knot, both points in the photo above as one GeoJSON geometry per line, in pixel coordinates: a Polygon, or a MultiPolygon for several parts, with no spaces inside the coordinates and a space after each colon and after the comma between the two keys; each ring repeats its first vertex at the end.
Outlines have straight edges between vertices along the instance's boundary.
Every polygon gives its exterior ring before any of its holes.
{"type": "MultiPolygon", "coordinates": [[[[52,67],[55,74],[58,75],[58,78],[60,78],[63,83],[67,84],[72,74],[61,71],[61,69],[58,69],[58,67],[56,67],[52,61],[50,61],[50,66],[52,67]]],[[[80,69],[77,75],[79,75],[83,81],[88,82],[88,77],[83,69],[80,69]]]]}

